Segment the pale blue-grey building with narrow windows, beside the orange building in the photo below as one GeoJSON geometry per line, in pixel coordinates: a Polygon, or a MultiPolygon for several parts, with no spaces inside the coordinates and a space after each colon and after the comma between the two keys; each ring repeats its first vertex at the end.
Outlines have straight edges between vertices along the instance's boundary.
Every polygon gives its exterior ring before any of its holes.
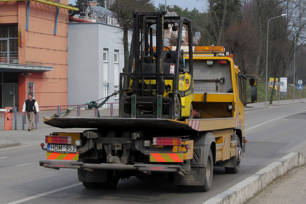
{"type": "MultiPolygon", "coordinates": [[[[121,28],[109,24],[68,23],[68,105],[96,101],[118,90],[124,67],[121,38],[121,28]]],[[[108,100],[114,102],[118,95],[108,100]]]]}

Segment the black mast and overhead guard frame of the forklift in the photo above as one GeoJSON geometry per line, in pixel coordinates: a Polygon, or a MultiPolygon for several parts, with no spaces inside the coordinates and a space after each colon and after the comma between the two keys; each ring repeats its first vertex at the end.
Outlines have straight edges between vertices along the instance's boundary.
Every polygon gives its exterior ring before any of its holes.
{"type": "Polygon", "coordinates": [[[192,23],[187,18],[165,14],[165,11],[133,13],[128,72],[120,74],[121,118],[180,117],[179,75],[185,73],[186,67],[181,50],[182,32],[188,30],[188,73],[192,76],[192,23]],[[171,47],[164,45],[164,32],[169,28],[176,38],[176,45],[171,47]]]}

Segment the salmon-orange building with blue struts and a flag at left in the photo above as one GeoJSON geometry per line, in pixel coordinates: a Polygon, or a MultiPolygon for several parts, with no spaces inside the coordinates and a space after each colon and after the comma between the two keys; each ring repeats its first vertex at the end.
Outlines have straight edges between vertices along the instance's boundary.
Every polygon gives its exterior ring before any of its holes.
{"type": "Polygon", "coordinates": [[[0,108],[67,105],[68,0],[0,1],[0,108]]]}

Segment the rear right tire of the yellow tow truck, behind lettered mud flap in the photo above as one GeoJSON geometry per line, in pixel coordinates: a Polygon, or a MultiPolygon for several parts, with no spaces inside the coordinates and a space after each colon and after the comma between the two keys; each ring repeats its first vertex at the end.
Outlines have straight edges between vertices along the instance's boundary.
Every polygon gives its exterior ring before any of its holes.
{"type": "Polygon", "coordinates": [[[212,184],[212,176],[213,176],[213,157],[211,149],[209,149],[208,156],[207,156],[207,165],[204,167],[204,185],[203,186],[194,186],[197,191],[200,192],[207,192],[211,188],[212,184]]]}

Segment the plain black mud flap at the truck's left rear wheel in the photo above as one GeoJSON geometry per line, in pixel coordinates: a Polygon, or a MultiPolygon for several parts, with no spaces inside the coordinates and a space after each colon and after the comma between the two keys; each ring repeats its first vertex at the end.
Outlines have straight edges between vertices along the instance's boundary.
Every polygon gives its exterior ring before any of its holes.
{"type": "Polygon", "coordinates": [[[78,169],[77,174],[81,182],[106,182],[107,170],[106,169],[78,169]],[[92,171],[91,171],[92,170],[92,171]]]}

